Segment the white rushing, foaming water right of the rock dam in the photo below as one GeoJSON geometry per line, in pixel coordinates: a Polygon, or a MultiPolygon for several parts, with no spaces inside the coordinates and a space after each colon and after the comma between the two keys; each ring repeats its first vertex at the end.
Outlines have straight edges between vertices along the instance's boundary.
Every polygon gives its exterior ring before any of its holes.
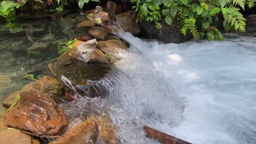
{"type": "Polygon", "coordinates": [[[122,73],[109,95],[122,143],[156,143],[136,125],[192,143],[256,143],[255,38],[159,44],[122,36],[139,49],[119,53],[122,73]]]}

